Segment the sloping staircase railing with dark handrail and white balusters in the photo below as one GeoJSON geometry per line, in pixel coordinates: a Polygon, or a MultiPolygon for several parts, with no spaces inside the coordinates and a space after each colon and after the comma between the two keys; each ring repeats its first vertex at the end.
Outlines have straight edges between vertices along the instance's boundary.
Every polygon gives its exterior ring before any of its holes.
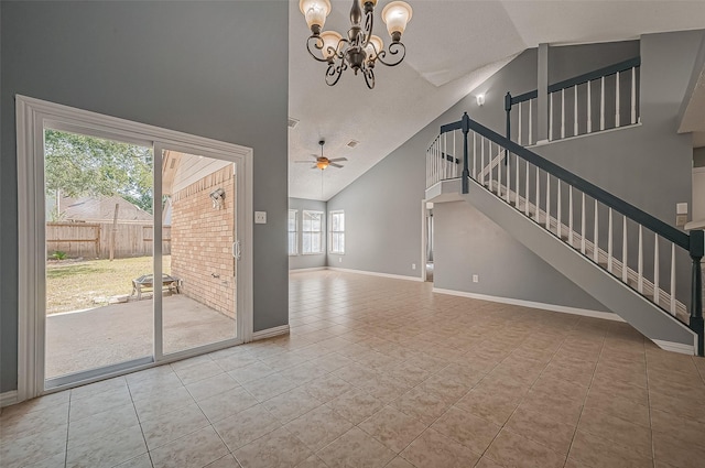
{"type": "Polygon", "coordinates": [[[426,162],[427,187],[458,175],[464,194],[471,182],[482,185],[686,324],[697,334],[697,352],[703,356],[702,230],[685,233],[470,120],[467,113],[441,127],[426,162]],[[507,164],[500,164],[502,159],[507,164]],[[682,274],[679,280],[679,272],[688,269],[690,285],[682,274]]]}

